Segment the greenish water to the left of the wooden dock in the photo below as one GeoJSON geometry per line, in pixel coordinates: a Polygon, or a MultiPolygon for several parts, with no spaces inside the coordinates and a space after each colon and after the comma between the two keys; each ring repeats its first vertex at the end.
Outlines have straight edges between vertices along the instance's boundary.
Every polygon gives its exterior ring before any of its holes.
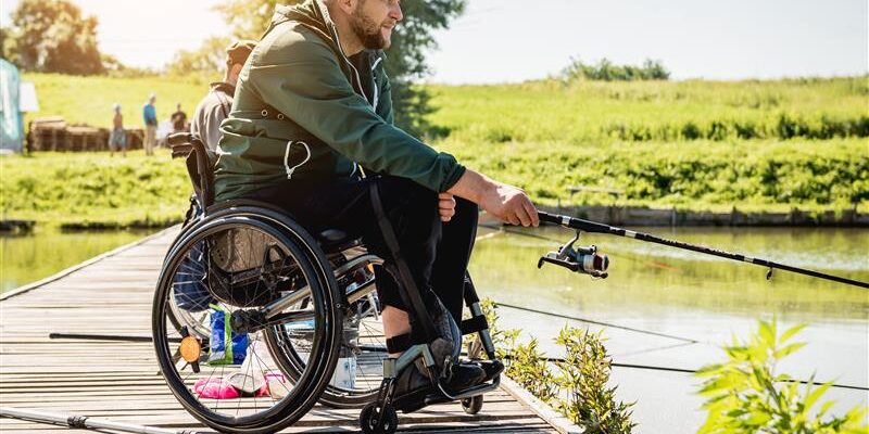
{"type": "Polygon", "coordinates": [[[153,230],[74,231],[37,227],[30,233],[0,233],[0,292],[45,279],[153,230]]]}

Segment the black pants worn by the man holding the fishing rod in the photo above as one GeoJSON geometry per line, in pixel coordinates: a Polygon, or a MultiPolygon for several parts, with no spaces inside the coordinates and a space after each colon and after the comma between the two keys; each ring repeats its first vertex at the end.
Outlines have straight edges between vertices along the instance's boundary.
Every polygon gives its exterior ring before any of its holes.
{"type": "MultiPolygon", "coordinates": [[[[287,181],[259,190],[249,199],[286,209],[310,231],[336,228],[361,237],[368,251],[389,265],[393,259],[371,204],[373,182],[378,184],[383,210],[424,303],[431,309],[431,294],[437,294],[461,322],[465,272],[477,233],[478,208],[473,202],[456,197],[455,215],[444,224],[438,214],[436,192],[396,177],[328,183],[287,181]]],[[[408,310],[399,294],[398,280],[381,268],[377,291],[381,304],[408,310]]]]}

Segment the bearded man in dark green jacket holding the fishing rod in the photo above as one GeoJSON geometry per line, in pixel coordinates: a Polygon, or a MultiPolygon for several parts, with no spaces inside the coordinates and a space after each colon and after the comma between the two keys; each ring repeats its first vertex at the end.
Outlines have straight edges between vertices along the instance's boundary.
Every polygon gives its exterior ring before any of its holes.
{"type": "MultiPolygon", "coordinates": [[[[361,237],[385,259],[376,281],[390,357],[427,343],[459,391],[503,369],[457,359],[478,206],[513,225],[539,221],[520,189],[393,125],[382,50],[402,17],[400,0],[278,7],[222,125],[216,201],[266,202],[310,230],[361,237]]],[[[395,396],[430,383],[424,371],[399,373],[395,396]]]]}

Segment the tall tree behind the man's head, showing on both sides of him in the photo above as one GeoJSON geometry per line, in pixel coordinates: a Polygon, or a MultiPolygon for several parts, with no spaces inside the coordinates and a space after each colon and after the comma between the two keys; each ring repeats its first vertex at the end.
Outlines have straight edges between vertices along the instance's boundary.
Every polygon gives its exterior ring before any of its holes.
{"type": "MultiPolygon", "coordinates": [[[[298,0],[229,0],[217,7],[237,37],[259,38],[268,26],[276,4],[294,4],[298,0]]],[[[414,80],[430,73],[426,51],[437,47],[431,33],[448,28],[465,10],[466,0],[404,0],[404,21],[392,35],[386,67],[392,82],[395,123],[415,135],[428,131],[426,115],[431,113],[426,89],[413,86],[414,80]]]]}

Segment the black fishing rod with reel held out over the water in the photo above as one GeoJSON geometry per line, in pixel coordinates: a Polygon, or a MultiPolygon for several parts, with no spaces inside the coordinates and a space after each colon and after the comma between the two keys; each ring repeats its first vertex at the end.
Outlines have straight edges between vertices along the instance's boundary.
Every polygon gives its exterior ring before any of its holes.
{"type": "Polygon", "coordinates": [[[869,289],[869,283],[858,280],[846,279],[839,276],[828,275],[820,271],[809,270],[805,268],[792,267],[784,264],[773,263],[771,260],[760,259],[756,257],[746,256],[739,253],[725,252],[718,248],[711,248],[704,245],[690,244],[682,241],[667,240],[664,238],[655,237],[650,233],[637,232],[628,229],[617,228],[615,226],[604,225],[596,221],[583,220],[581,218],[562,216],[556,214],[549,214],[538,212],[540,221],[546,221],[563,226],[565,228],[575,229],[576,235],[562,245],[557,252],[550,252],[538,261],[538,268],[543,264],[554,264],[559,267],[567,268],[574,272],[590,275],[595,278],[605,279],[608,275],[606,272],[609,267],[609,258],[605,254],[597,253],[597,246],[591,245],[588,247],[574,247],[574,243],[579,240],[582,232],[589,233],[607,233],[610,235],[632,238],[634,240],[645,241],[655,244],[668,245],[670,247],[682,248],[691,252],[703,253],[706,255],[718,256],[727,259],[739,260],[743,263],[754,264],[761,267],[767,267],[767,280],[772,278],[772,269],[780,269],[799,275],[810,276],[818,279],[830,280],[833,282],[845,283],[854,286],[869,289]]]}

